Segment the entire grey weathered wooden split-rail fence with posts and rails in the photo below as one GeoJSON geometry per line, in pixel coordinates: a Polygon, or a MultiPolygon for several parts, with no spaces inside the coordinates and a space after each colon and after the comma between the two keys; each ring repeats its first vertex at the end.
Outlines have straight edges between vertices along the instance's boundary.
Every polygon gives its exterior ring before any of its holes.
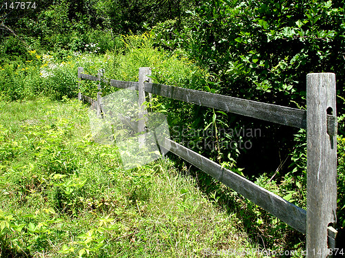
{"type": "MultiPolygon", "coordinates": [[[[307,208],[299,208],[275,193],[250,182],[241,175],[221,167],[216,162],[192,151],[168,138],[162,144],[190,164],[208,173],[230,189],[243,195],[251,202],[264,208],[289,226],[306,234],[306,257],[331,257],[335,250],[336,211],[337,211],[337,116],[335,74],[318,73],[306,76],[307,107],[294,109],[261,103],[242,98],[234,98],[193,89],[151,83],[149,67],[139,68],[139,81],[128,82],[83,74],[78,68],[79,80],[103,81],[113,87],[132,87],[139,91],[139,107],[145,113],[143,103],[146,93],[164,96],[175,100],[194,103],[221,111],[249,116],[280,125],[306,129],[307,134],[307,208]]],[[[79,92],[79,100],[86,100],[101,112],[101,83],[98,85],[97,100],[79,92]]],[[[144,131],[144,119],[139,119],[139,131],[144,131]]]]}

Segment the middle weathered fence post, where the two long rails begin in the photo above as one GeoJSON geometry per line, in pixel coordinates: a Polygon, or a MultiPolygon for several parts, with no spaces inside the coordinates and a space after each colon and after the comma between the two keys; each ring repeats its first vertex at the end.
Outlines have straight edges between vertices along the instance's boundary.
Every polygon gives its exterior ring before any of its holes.
{"type": "MultiPolygon", "coordinates": [[[[138,129],[139,129],[139,133],[144,132],[145,131],[145,120],[146,118],[144,116],[146,116],[148,114],[148,111],[146,110],[146,108],[144,107],[144,102],[146,101],[146,94],[145,94],[145,90],[144,90],[144,83],[151,82],[151,78],[149,78],[146,75],[150,75],[151,74],[151,68],[150,67],[140,67],[139,68],[139,100],[138,100],[138,104],[139,104],[139,121],[138,121],[138,129]]],[[[139,146],[142,147],[144,144],[144,136],[143,137],[139,137],[139,146]]]]}

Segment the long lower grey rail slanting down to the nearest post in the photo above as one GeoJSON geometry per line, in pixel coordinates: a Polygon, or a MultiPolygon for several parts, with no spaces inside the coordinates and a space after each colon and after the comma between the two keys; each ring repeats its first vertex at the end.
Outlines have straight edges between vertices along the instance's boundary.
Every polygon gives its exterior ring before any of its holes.
{"type": "Polygon", "coordinates": [[[304,209],[168,138],[165,138],[164,142],[159,142],[159,145],[165,149],[170,149],[172,153],[197,166],[299,232],[306,233],[306,211],[304,209]]]}

